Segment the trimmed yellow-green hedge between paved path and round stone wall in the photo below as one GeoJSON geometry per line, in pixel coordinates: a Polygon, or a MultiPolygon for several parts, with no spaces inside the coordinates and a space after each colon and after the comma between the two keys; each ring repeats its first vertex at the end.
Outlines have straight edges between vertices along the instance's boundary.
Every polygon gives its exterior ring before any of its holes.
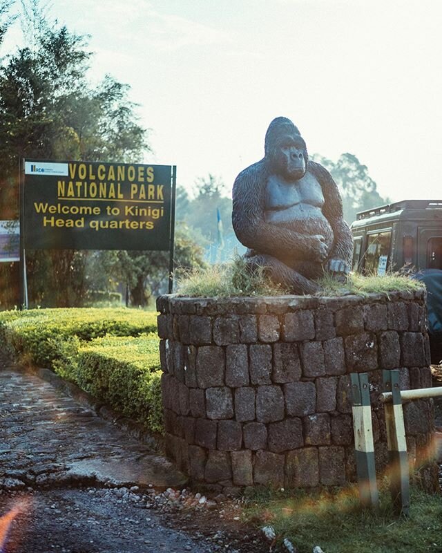
{"type": "Polygon", "coordinates": [[[156,319],[156,312],[124,308],[6,311],[0,344],[162,432],[156,319]]]}

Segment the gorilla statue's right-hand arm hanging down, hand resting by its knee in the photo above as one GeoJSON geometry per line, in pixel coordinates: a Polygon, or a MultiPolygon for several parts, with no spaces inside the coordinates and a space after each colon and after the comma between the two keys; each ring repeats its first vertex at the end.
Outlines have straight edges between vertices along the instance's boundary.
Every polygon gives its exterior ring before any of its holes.
{"type": "Polygon", "coordinates": [[[330,223],[334,234],[334,241],[327,256],[326,269],[330,272],[348,274],[353,255],[352,231],[343,218],[343,203],[338,187],[327,169],[316,162],[309,161],[309,168],[316,176],[323,189],[323,214],[330,223]]]}

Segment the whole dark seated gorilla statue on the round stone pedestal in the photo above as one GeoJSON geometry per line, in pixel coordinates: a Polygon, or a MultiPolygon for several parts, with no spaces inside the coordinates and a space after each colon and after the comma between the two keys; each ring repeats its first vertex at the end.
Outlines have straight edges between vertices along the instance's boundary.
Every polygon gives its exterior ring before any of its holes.
{"type": "Polygon", "coordinates": [[[316,292],[314,279],[324,272],[343,281],[349,273],[353,238],[338,187],[309,160],[305,141],[287,118],[271,122],[264,158],[236,178],[232,222],[248,248],[249,268],[265,268],[292,294],[316,292]]]}

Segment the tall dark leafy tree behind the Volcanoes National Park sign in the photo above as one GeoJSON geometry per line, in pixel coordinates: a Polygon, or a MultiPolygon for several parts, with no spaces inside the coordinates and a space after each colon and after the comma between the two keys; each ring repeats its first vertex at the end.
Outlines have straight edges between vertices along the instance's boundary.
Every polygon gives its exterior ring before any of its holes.
{"type": "MultiPolygon", "coordinates": [[[[0,39],[11,22],[9,6],[0,3],[0,39]]],[[[21,158],[135,162],[149,150],[129,87],[110,76],[89,84],[85,37],[51,24],[38,0],[23,1],[23,22],[26,46],[0,66],[0,219],[18,217],[21,158]]],[[[87,259],[70,250],[28,252],[32,297],[81,303],[87,259]]]]}

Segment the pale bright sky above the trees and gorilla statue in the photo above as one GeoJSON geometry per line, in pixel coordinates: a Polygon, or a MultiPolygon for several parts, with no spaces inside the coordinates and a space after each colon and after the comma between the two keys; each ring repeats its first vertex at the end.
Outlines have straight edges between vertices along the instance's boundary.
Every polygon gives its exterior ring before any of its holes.
{"type": "MultiPolygon", "coordinates": [[[[154,153],[189,191],[231,193],[290,118],[310,153],[354,153],[381,196],[442,198],[439,0],[52,0],[90,35],[91,78],[131,86],[154,153]]],[[[0,55],[20,44],[17,24],[0,55]]]]}

